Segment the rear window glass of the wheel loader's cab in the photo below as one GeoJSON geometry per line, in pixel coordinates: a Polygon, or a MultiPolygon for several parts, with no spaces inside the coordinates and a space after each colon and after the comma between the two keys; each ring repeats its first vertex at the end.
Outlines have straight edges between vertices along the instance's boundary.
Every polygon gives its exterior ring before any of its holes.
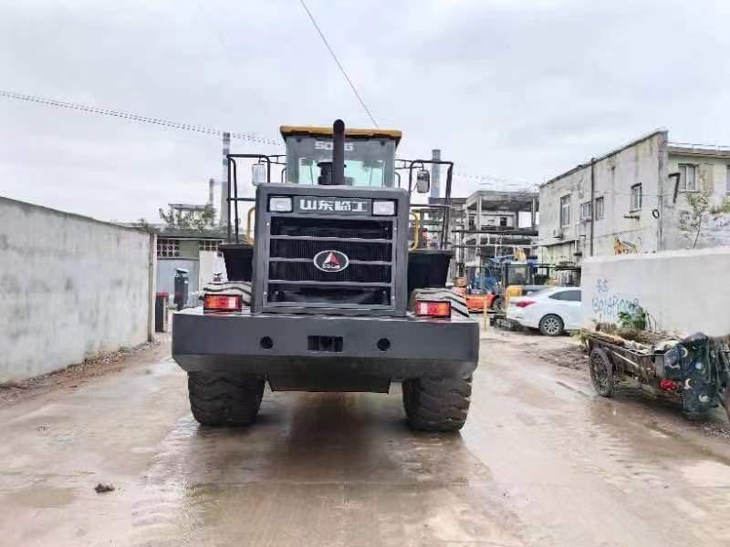
{"type": "MultiPolygon", "coordinates": [[[[395,142],[391,139],[345,141],[345,183],[349,186],[393,185],[395,142]]],[[[287,183],[317,184],[321,163],[332,161],[332,139],[287,137],[287,183]]]]}

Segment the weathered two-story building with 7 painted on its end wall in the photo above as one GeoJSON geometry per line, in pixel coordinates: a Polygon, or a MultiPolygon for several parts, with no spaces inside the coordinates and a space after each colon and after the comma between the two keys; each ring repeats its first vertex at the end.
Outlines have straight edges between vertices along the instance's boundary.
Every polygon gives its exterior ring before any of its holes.
{"type": "Polygon", "coordinates": [[[540,186],[546,263],[730,244],[730,148],[656,130],[540,186]]]}

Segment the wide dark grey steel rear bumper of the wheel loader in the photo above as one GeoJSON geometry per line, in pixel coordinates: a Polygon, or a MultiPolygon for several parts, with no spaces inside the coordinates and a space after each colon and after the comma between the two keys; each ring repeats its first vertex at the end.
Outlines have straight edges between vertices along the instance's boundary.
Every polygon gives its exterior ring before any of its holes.
{"type": "Polygon", "coordinates": [[[413,316],[203,314],[172,319],[172,357],[184,370],[249,374],[312,373],[402,379],[468,375],[479,357],[479,325],[469,318],[413,316]],[[309,349],[317,336],[340,337],[339,351],[309,349]],[[387,344],[379,341],[387,340],[387,344]],[[385,348],[387,346],[387,348],[385,348]],[[383,349],[385,348],[385,349],[383,349]]]}

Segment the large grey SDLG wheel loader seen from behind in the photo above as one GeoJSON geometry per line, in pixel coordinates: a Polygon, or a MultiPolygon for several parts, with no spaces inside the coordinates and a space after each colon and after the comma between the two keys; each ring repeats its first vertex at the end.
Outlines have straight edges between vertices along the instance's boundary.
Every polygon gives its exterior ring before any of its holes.
{"type": "Polygon", "coordinates": [[[462,428],[479,330],[463,296],[445,288],[453,163],[397,161],[400,131],[341,120],[281,134],[286,160],[227,156],[227,279],[205,287],[203,306],[173,316],[172,356],[188,373],[193,417],[249,425],[266,382],[376,393],[400,383],[412,428],[462,428]],[[239,162],[252,159],[255,198],[245,198],[239,162]],[[412,204],[429,190],[429,164],[447,168],[445,204],[412,204]],[[408,171],[408,188],[397,170],[408,171]],[[427,248],[418,241],[424,210],[443,224],[427,248]]]}

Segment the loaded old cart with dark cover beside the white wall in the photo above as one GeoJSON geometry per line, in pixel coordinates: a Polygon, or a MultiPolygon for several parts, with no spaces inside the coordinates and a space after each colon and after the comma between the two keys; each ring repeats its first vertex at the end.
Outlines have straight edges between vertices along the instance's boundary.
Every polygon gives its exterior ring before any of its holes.
{"type": "Polygon", "coordinates": [[[730,418],[730,339],[697,333],[667,339],[642,331],[640,340],[583,331],[590,379],[600,396],[610,397],[617,382],[642,387],[682,404],[687,414],[724,406],[730,418]]]}

